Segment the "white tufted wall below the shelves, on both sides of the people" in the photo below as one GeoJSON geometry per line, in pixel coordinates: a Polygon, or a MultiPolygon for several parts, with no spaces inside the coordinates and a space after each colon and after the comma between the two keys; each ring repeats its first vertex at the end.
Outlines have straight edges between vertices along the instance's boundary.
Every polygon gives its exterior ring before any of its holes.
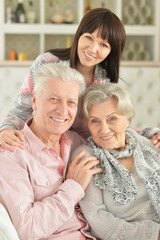
{"type": "MultiPolygon", "coordinates": [[[[0,67],[0,121],[14,101],[29,66],[0,67]]],[[[122,66],[120,76],[127,84],[136,109],[133,126],[160,127],[160,67],[122,66]]]]}

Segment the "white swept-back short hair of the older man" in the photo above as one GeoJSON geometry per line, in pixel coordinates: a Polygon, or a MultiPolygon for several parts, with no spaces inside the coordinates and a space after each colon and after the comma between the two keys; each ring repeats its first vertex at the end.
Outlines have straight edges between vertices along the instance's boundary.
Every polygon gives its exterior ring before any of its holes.
{"type": "Polygon", "coordinates": [[[86,88],[84,77],[76,69],[62,65],[48,63],[41,66],[35,73],[34,94],[39,97],[41,91],[45,88],[47,80],[54,77],[61,78],[64,82],[76,82],[80,86],[80,94],[82,94],[86,88]]]}

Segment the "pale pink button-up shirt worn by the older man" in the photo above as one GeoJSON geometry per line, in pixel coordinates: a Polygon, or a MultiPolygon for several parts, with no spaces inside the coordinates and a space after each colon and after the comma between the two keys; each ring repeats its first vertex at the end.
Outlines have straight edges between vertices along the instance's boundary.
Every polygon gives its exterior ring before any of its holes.
{"type": "Polygon", "coordinates": [[[88,231],[77,207],[84,197],[83,188],[74,180],[65,180],[71,149],[84,140],[74,132],[63,134],[61,159],[27,124],[22,131],[27,148],[0,153],[0,201],[20,239],[95,239],[82,234],[88,231]]]}

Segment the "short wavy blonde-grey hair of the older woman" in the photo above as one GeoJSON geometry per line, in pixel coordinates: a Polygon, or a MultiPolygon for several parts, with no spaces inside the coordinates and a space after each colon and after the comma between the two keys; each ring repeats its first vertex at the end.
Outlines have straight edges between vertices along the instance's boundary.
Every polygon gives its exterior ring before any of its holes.
{"type": "Polygon", "coordinates": [[[130,94],[116,83],[98,84],[90,88],[81,98],[81,118],[87,122],[90,107],[111,98],[117,101],[118,113],[127,117],[131,123],[135,111],[130,94]]]}

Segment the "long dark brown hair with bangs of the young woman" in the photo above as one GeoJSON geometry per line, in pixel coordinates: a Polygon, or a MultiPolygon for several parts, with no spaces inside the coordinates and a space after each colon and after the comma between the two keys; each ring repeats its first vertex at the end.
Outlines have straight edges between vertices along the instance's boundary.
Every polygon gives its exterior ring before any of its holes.
{"type": "Polygon", "coordinates": [[[118,82],[119,67],[122,51],[125,45],[126,34],[125,29],[120,19],[109,9],[95,8],[84,15],[79,27],[75,33],[72,46],[66,49],[51,49],[53,53],[62,60],[70,60],[70,66],[77,68],[78,41],[82,34],[93,33],[99,29],[99,34],[102,39],[107,39],[111,45],[111,52],[103,60],[100,65],[107,72],[107,77],[111,82],[118,82]]]}

